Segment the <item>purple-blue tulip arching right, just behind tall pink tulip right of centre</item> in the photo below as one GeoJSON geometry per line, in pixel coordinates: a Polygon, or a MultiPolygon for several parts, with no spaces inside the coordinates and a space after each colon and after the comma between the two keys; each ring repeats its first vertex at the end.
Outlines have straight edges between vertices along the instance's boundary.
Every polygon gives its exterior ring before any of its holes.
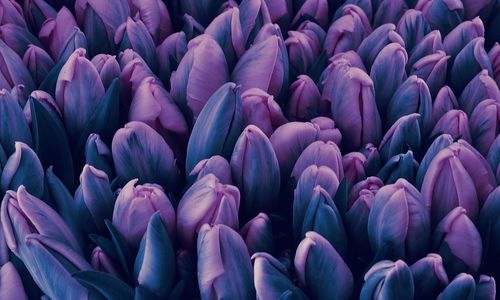
{"type": "Polygon", "coordinates": [[[361,42],[357,52],[363,60],[364,65],[369,69],[379,52],[390,43],[398,43],[401,46],[405,44],[403,38],[396,32],[396,25],[384,24],[374,29],[361,42]]]}

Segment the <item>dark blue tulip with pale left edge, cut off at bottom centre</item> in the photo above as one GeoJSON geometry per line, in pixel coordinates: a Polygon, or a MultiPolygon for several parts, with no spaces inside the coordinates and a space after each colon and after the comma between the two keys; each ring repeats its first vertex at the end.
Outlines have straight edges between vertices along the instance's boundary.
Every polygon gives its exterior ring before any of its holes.
{"type": "Polygon", "coordinates": [[[288,274],[288,270],[279,260],[268,253],[255,253],[254,284],[257,299],[279,299],[292,297],[293,299],[307,299],[306,295],[295,286],[288,274]]]}

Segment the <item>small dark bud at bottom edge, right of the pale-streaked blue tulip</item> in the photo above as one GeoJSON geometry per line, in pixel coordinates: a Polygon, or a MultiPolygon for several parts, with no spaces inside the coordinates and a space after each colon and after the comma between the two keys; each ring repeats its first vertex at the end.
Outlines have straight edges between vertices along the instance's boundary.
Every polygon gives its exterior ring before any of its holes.
{"type": "Polygon", "coordinates": [[[434,299],[448,285],[443,259],[438,254],[427,254],[410,269],[415,283],[415,299],[434,299]]]}

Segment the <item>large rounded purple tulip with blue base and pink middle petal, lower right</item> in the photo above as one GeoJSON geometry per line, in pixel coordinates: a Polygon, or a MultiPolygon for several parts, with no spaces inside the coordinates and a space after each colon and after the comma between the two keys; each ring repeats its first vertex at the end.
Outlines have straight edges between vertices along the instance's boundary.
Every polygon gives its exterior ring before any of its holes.
{"type": "Polygon", "coordinates": [[[427,253],[430,235],[429,211],[413,185],[398,179],[377,191],[368,217],[368,237],[376,260],[415,262],[427,253]]]}

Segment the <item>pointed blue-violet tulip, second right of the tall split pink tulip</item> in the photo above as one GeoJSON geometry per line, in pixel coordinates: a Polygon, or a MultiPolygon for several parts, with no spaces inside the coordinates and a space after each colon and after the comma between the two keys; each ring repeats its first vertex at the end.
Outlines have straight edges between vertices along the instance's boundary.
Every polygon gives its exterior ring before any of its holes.
{"type": "Polygon", "coordinates": [[[407,115],[419,114],[418,123],[422,135],[432,129],[432,96],[422,78],[410,76],[394,93],[387,106],[387,126],[394,126],[398,119],[407,115]]]}

